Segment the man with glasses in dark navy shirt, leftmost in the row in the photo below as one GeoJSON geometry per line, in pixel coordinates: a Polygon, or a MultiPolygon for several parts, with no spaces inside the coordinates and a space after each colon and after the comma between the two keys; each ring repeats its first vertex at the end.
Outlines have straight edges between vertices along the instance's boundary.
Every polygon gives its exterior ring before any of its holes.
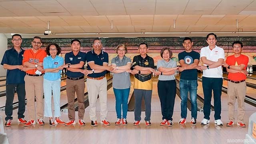
{"type": "Polygon", "coordinates": [[[12,103],[14,99],[15,88],[18,94],[18,122],[26,124],[24,120],[25,112],[25,82],[24,76],[25,72],[20,69],[22,66],[22,59],[24,50],[21,48],[22,38],[20,34],[14,34],[12,36],[13,48],[6,50],[1,64],[4,66],[4,69],[7,69],[6,74],[6,102],[5,102],[5,114],[6,114],[6,123],[4,126],[11,126],[12,124],[12,103]]]}

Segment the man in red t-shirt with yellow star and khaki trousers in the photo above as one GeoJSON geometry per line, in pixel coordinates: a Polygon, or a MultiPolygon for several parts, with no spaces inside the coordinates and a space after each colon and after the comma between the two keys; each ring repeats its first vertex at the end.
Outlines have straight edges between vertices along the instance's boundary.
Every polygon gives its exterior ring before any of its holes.
{"type": "Polygon", "coordinates": [[[246,67],[249,61],[248,56],[241,54],[243,44],[235,41],[232,44],[234,55],[228,56],[223,64],[228,71],[228,123],[226,126],[234,124],[234,105],[236,97],[238,101],[238,126],[246,127],[244,124],[244,98],[246,95],[246,67]]]}

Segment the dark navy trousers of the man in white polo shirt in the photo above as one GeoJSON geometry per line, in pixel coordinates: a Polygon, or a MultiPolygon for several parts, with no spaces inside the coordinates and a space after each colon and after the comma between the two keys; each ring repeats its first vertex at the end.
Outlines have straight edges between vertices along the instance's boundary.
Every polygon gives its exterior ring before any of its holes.
{"type": "Polygon", "coordinates": [[[212,91],[214,98],[214,119],[221,118],[221,93],[222,93],[222,78],[207,78],[202,77],[203,91],[204,91],[204,118],[210,120],[210,109],[212,100],[212,91]]]}

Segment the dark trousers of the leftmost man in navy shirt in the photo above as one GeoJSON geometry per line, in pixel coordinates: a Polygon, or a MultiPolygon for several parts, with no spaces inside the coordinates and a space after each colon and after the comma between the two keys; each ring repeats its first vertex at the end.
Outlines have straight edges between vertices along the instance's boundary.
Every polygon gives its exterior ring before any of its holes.
{"type": "Polygon", "coordinates": [[[6,84],[5,120],[12,120],[13,99],[15,88],[18,95],[18,118],[24,118],[25,112],[25,84],[6,84]]]}

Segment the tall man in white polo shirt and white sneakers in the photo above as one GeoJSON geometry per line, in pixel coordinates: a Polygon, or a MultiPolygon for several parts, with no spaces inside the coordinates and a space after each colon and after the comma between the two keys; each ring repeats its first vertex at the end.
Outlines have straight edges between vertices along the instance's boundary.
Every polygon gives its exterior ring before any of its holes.
{"type": "Polygon", "coordinates": [[[218,126],[223,125],[220,120],[221,116],[221,92],[222,92],[222,63],[225,55],[224,50],[216,46],[217,36],[210,33],[206,36],[206,42],[209,46],[201,49],[200,58],[204,63],[203,66],[198,66],[198,70],[203,70],[202,85],[204,92],[204,119],[201,124],[210,123],[210,109],[212,91],[214,97],[214,123],[218,126]]]}

